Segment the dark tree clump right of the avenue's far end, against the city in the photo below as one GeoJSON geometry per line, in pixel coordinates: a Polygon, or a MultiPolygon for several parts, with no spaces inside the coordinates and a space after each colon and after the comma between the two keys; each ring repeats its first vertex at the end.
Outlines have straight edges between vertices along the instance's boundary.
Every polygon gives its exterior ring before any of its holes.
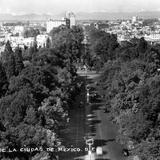
{"type": "Polygon", "coordinates": [[[86,33],[89,42],[85,45],[86,54],[83,54],[83,59],[90,67],[100,70],[105,62],[115,59],[116,49],[119,46],[117,36],[94,27],[86,28],[86,33]]]}

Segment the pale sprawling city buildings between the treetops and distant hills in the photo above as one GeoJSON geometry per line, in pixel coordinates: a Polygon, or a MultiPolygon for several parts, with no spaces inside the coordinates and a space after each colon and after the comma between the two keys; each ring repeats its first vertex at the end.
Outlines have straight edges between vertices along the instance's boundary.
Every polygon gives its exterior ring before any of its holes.
{"type": "MultiPolygon", "coordinates": [[[[20,46],[22,48],[30,47],[34,41],[38,47],[46,45],[49,33],[53,28],[65,25],[72,27],[74,25],[90,26],[106,33],[117,35],[118,42],[130,41],[132,38],[142,38],[150,43],[160,42],[160,20],[142,19],[133,16],[126,20],[78,20],[73,12],[66,12],[61,19],[47,19],[46,22],[2,22],[0,26],[0,51],[4,51],[5,43],[10,41],[13,48],[20,46]],[[32,34],[30,34],[32,32],[32,34]],[[36,36],[35,36],[35,35],[36,36]]],[[[51,37],[50,37],[51,38],[51,37]]]]}

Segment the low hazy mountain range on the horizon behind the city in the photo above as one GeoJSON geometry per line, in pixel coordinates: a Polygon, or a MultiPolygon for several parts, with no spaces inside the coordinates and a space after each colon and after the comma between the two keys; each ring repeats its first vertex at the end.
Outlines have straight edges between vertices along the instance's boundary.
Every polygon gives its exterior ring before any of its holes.
{"type": "MultiPolygon", "coordinates": [[[[0,21],[46,21],[50,18],[61,19],[64,17],[64,13],[58,15],[48,14],[25,14],[25,15],[11,15],[0,14],[0,21]]],[[[131,19],[133,16],[140,18],[160,18],[160,12],[78,12],[76,13],[77,20],[115,20],[115,19],[131,19]]]]}

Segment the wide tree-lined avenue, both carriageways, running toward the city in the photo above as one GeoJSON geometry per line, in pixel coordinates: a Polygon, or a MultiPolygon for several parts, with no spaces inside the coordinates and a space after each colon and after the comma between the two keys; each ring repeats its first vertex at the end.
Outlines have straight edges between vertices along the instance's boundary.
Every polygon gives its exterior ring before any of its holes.
{"type": "MultiPolygon", "coordinates": [[[[79,72],[85,79],[86,73],[79,72]]],[[[125,160],[122,155],[122,146],[116,143],[118,130],[110,120],[107,113],[104,113],[104,102],[100,98],[91,98],[96,91],[95,81],[99,75],[96,72],[87,72],[86,85],[89,88],[89,102],[87,101],[87,91],[82,88],[80,95],[77,95],[74,109],[70,110],[70,122],[67,129],[63,131],[64,144],[70,148],[80,148],[81,152],[59,153],[60,160],[125,160]],[[92,86],[92,87],[91,87],[92,86]],[[78,107],[83,101],[83,107],[78,107]],[[88,154],[85,150],[88,146],[85,144],[85,138],[94,139],[93,148],[102,147],[103,154],[98,156],[95,149],[88,154]]]]}

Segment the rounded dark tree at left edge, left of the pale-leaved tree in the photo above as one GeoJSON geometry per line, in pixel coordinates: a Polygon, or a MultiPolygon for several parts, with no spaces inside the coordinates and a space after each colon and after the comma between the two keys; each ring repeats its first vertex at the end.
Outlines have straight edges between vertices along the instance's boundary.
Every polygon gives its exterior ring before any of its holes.
{"type": "Polygon", "coordinates": [[[0,115],[3,123],[17,126],[23,121],[27,108],[31,106],[35,107],[35,100],[32,98],[31,90],[27,88],[2,98],[0,115]]]}

